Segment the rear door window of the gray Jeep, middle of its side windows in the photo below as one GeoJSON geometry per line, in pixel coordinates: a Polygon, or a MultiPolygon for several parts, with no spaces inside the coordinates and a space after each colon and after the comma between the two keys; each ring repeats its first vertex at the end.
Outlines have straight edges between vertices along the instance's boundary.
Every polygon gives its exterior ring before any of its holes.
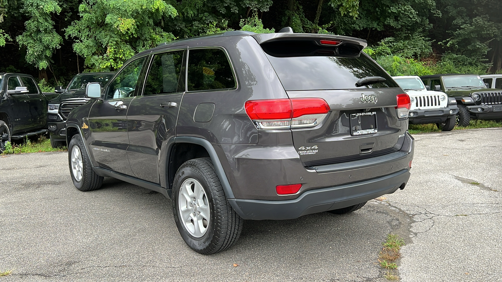
{"type": "Polygon", "coordinates": [[[143,95],[184,92],[184,54],[183,50],[156,54],[148,72],[143,95]]]}

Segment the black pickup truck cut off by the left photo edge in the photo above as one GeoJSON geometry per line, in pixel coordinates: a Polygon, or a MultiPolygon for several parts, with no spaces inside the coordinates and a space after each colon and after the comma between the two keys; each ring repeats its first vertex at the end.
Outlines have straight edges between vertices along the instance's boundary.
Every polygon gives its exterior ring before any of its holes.
{"type": "Polygon", "coordinates": [[[0,153],[12,139],[47,132],[48,99],[33,76],[0,73],[0,153]]]}

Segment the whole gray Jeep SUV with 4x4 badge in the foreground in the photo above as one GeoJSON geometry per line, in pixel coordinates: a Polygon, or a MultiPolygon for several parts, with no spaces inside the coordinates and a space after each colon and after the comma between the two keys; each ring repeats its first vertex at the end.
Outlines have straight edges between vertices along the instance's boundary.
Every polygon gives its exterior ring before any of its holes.
{"type": "Polygon", "coordinates": [[[69,114],[73,183],[164,194],[202,254],[230,247],[244,219],[344,214],[403,189],[410,98],[365,46],[235,31],[139,53],[69,114]]]}

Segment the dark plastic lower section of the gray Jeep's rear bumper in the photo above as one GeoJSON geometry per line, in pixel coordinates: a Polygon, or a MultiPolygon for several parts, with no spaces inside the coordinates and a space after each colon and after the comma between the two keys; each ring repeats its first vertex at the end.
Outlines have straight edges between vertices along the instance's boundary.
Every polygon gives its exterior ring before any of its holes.
{"type": "Polygon", "coordinates": [[[243,219],[293,219],[303,215],[356,205],[404,188],[410,170],[347,185],[310,190],[294,200],[265,201],[231,199],[230,204],[243,219]]]}

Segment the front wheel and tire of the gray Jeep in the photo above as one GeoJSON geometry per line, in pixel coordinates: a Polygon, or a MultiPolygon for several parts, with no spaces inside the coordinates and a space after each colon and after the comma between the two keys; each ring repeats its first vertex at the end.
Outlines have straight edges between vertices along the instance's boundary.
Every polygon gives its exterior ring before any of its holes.
{"type": "Polygon", "coordinates": [[[73,136],[68,144],[68,166],[73,185],[78,190],[92,191],[99,189],[103,184],[103,177],[92,169],[82,137],[78,134],[73,136]]]}

